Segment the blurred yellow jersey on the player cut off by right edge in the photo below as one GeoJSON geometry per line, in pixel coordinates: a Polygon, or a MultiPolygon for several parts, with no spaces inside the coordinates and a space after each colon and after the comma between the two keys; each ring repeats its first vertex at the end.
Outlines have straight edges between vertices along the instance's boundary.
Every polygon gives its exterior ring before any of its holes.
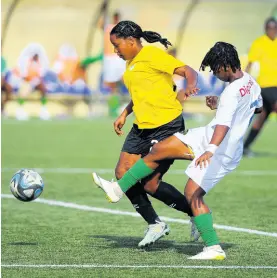
{"type": "Polygon", "coordinates": [[[267,35],[256,39],[248,53],[249,62],[259,62],[260,74],[257,82],[262,88],[277,86],[277,38],[267,35]]]}

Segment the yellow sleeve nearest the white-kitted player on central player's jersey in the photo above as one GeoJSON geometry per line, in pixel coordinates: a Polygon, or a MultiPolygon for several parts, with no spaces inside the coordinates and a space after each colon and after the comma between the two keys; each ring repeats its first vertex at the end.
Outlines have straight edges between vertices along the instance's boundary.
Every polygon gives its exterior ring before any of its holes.
{"type": "Polygon", "coordinates": [[[168,74],[173,75],[174,70],[176,68],[182,67],[185,64],[173,57],[172,55],[169,55],[165,51],[156,48],[154,55],[151,57],[150,66],[153,69],[156,69],[161,72],[166,72],[168,74]]]}

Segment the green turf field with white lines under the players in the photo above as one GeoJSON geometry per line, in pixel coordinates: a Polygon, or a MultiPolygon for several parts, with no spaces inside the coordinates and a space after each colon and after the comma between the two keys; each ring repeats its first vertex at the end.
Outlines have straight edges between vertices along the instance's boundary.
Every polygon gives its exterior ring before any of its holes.
{"type": "MultiPolygon", "coordinates": [[[[277,277],[277,269],[265,269],[277,267],[276,138],[277,124],[271,122],[254,148],[261,156],[244,159],[207,196],[216,224],[247,230],[218,229],[227,259],[199,262],[187,258],[201,243],[189,242],[187,224],[172,222],[188,219],[180,212],[153,201],[158,214],[170,218],[171,233],[143,251],[137,244],[144,221],[103,211],[134,212],[126,198],[107,203],[89,174],[101,169],[103,177],[113,177],[124,139],[113,133],[112,120],[2,121],[2,194],[10,194],[16,169],[40,168],[45,181],[40,203],[2,196],[2,277],[277,277]]],[[[165,176],[181,191],[186,176],[178,170],[186,165],[176,162],[165,176]]]]}

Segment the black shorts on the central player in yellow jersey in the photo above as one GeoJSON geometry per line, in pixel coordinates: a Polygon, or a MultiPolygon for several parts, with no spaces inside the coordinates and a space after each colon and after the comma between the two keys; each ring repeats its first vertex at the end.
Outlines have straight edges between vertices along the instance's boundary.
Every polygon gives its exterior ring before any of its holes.
{"type": "Polygon", "coordinates": [[[182,114],[171,122],[153,129],[139,129],[134,124],[126,137],[121,151],[130,154],[140,154],[143,157],[149,153],[153,144],[184,130],[185,123],[182,114]]]}

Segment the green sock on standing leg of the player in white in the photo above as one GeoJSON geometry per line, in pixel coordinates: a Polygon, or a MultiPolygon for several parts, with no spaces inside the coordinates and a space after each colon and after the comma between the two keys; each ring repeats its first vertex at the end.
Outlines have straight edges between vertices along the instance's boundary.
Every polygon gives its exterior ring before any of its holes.
{"type": "Polygon", "coordinates": [[[194,217],[194,223],[206,246],[219,244],[217,234],[213,227],[213,218],[211,213],[200,214],[194,217]]]}

